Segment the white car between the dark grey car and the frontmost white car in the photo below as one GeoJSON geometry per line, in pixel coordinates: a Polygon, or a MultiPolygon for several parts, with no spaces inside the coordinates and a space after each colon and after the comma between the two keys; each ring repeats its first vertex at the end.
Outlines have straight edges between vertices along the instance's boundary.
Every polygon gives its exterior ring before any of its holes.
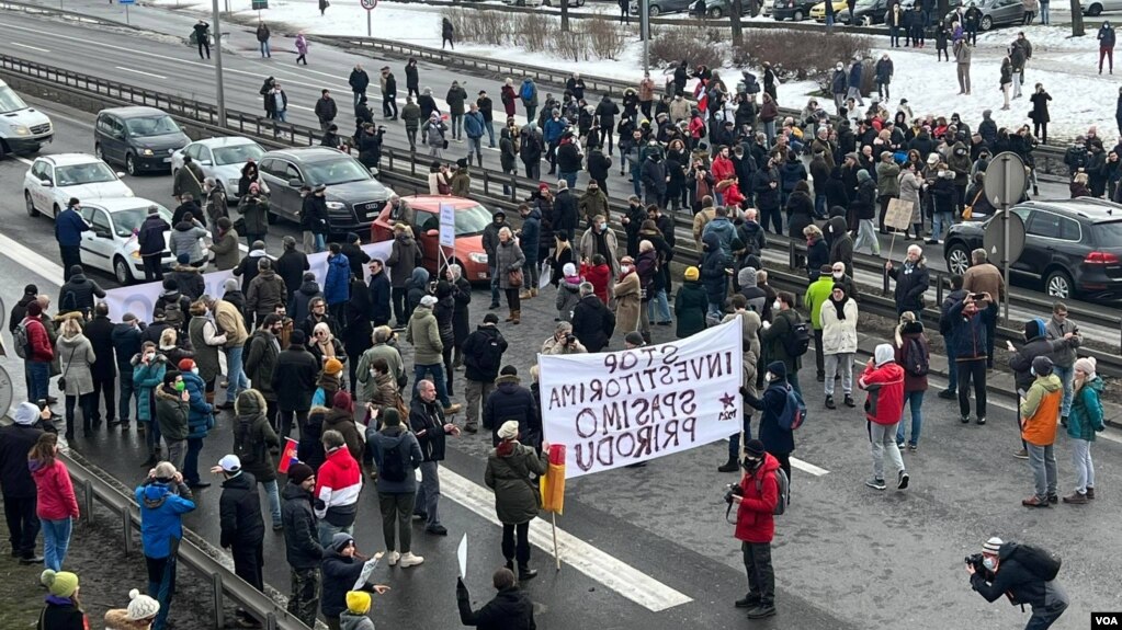
{"type": "Polygon", "coordinates": [[[101,197],[131,197],[132,188],[121,182],[123,175],[86,154],[39,156],[24,176],[27,214],[44,213],[53,219],[71,197],[82,203],[101,197]]]}

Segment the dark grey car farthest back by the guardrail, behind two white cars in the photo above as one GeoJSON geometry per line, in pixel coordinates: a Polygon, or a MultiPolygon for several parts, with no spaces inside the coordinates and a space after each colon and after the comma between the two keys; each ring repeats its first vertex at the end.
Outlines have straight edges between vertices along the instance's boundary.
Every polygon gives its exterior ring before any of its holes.
{"type": "Polygon", "coordinates": [[[188,142],[175,120],[156,108],[101,110],[93,128],[93,154],[110,164],[125,165],[129,175],[171,170],[172,154],[188,142]]]}

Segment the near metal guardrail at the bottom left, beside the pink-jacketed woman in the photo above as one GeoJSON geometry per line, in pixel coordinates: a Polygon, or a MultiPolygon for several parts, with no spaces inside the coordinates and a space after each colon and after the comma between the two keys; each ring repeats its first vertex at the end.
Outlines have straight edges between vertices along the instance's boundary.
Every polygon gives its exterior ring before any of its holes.
{"type": "MultiPolygon", "coordinates": [[[[125,541],[125,554],[140,550],[134,540],[134,530],[140,527],[140,510],[132,499],[129,489],[114,484],[112,475],[96,467],[68,448],[61,450],[58,456],[65,462],[71,479],[76,488],[82,490],[82,509],[86,519],[93,518],[95,504],[108,508],[120,518],[119,525],[125,541]]],[[[200,536],[184,530],[180,543],[178,560],[203,577],[208,578],[213,589],[214,628],[226,627],[223,609],[227,599],[252,614],[261,622],[265,630],[307,630],[302,621],[274,602],[267,595],[251,586],[219,563],[211,554],[217,554],[200,536]],[[211,549],[209,554],[204,547],[211,549]]]]}

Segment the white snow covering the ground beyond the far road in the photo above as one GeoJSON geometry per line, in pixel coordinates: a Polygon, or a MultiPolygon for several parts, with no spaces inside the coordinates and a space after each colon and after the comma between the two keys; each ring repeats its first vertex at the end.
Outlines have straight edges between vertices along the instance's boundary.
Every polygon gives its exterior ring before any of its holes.
{"type": "MultiPolygon", "coordinates": [[[[188,0],[156,0],[156,3],[190,6],[188,0]]],[[[199,10],[210,9],[210,0],[195,0],[199,10]]],[[[231,9],[245,16],[256,16],[249,8],[249,0],[230,0],[231,9]]],[[[292,28],[306,34],[366,36],[366,11],[358,2],[332,4],[327,16],[321,17],[316,9],[318,0],[272,0],[264,17],[269,21],[285,22],[292,28]]],[[[598,4],[597,4],[598,6],[598,4]]],[[[374,11],[374,36],[417,46],[440,46],[440,7],[414,3],[381,2],[374,11]]],[[[1055,11],[1054,11],[1055,12],[1055,11]]],[[[609,13],[610,15],[610,13],[609,13]]],[[[1088,35],[1082,38],[1070,38],[1070,28],[1066,26],[1032,25],[1021,28],[1004,28],[978,36],[978,47],[974,53],[971,67],[972,93],[958,95],[958,82],[954,63],[937,62],[934,40],[928,47],[913,52],[910,48],[884,48],[888,36],[876,36],[873,55],[875,58],[889,53],[893,59],[895,74],[890,86],[892,98],[890,111],[901,98],[917,114],[932,113],[950,117],[957,112],[972,129],[977,128],[983,110],[992,110],[999,127],[1018,127],[1028,122],[1031,109],[1029,95],[1036,83],[1042,83],[1051,94],[1051,123],[1049,124],[1050,143],[1063,143],[1075,136],[1084,133],[1095,124],[1100,133],[1113,140],[1118,132],[1114,112],[1119,100],[1120,82],[1111,75],[1100,76],[1097,73],[1098,46],[1095,31],[1098,21],[1087,21],[1088,35]],[[1005,47],[1011,43],[1018,30],[1024,30],[1026,37],[1032,43],[1033,56],[1026,71],[1023,96],[1011,102],[1011,109],[1002,111],[1002,94],[999,89],[1001,76],[1001,59],[1005,47]]],[[[637,28],[634,27],[633,28],[637,28]]],[[[747,35],[751,37],[751,31],[747,35]]],[[[793,37],[817,37],[806,33],[792,31],[793,37]]],[[[291,40],[286,40],[289,41],[291,40]]],[[[291,44],[289,44],[291,45],[291,44]]],[[[312,44],[312,55],[314,55],[312,44]]],[[[526,53],[517,48],[495,48],[490,46],[459,43],[457,52],[490,57],[511,57],[516,54],[518,61],[530,65],[572,68],[586,76],[603,76],[620,81],[638,82],[642,77],[642,46],[638,41],[631,43],[618,59],[581,62],[574,66],[571,61],[559,59],[545,53],[526,53]]],[[[1122,59],[1119,59],[1119,73],[1122,75],[1122,59]]],[[[660,83],[655,71],[655,82],[660,83]]],[[[756,71],[757,72],[757,71],[756,71]]],[[[737,76],[738,71],[728,68],[727,78],[737,76]]],[[[758,72],[757,72],[758,74],[758,72]]],[[[432,86],[440,92],[443,86],[432,86]]],[[[812,82],[791,82],[779,86],[779,102],[784,106],[801,109],[811,92],[816,90],[812,82]]],[[[828,110],[833,110],[830,99],[826,101],[828,110]]]]}

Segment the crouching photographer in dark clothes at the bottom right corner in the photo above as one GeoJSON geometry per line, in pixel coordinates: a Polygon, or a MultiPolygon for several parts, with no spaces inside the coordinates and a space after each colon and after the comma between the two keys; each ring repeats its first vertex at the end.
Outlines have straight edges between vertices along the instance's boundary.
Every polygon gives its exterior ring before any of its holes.
{"type": "Polygon", "coordinates": [[[1055,581],[1058,571],[1059,562],[1047,553],[1005,543],[996,536],[986,540],[981,554],[966,558],[971,586],[987,602],[995,602],[1004,594],[1014,605],[1032,606],[1024,630],[1045,630],[1067,610],[1067,593],[1055,581]]]}

